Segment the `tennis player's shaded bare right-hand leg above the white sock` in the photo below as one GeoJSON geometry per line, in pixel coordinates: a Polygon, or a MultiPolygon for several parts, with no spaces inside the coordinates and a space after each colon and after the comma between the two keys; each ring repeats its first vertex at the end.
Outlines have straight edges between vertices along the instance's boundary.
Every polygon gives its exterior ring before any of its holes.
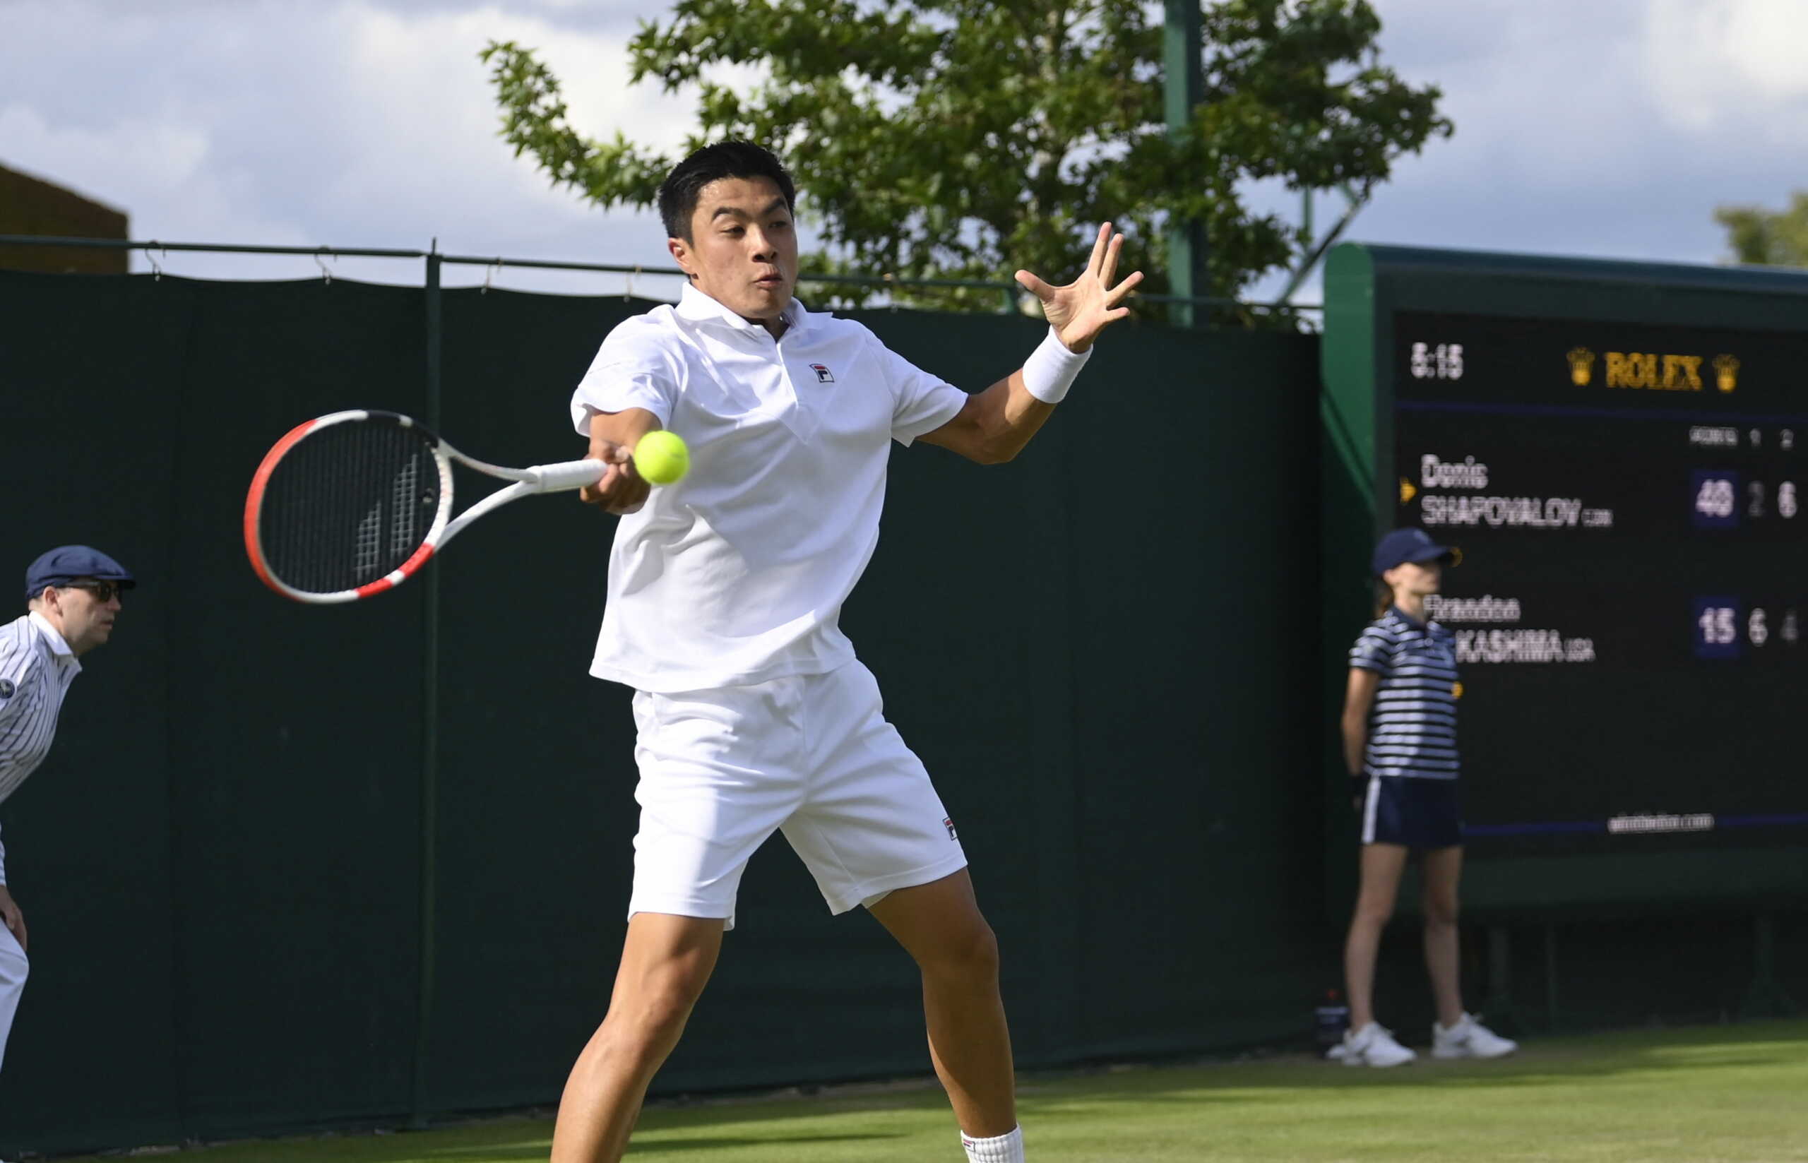
{"type": "Polygon", "coordinates": [[[1009,1134],[1018,1125],[1016,1076],[998,995],[998,941],[967,870],[899,888],[871,913],[922,969],[929,1060],[960,1129],[973,1138],[1009,1134]]]}

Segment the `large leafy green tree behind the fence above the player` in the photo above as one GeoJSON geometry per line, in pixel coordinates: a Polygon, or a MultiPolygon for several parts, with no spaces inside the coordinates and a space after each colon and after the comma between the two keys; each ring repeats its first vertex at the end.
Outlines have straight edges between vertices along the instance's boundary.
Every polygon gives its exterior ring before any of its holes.
{"type": "MultiPolygon", "coordinates": [[[[1123,269],[1163,293],[1164,222],[1182,215],[1204,221],[1211,293],[1229,298],[1305,244],[1238,186],[1367,195],[1452,127],[1436,87],[1380,63],[1367,0],[1206,0],[1202,25],[1204,101],[1179,136],[1163,123],[1161,18],[1134,0],[678,0],[629,54],[635,83],[698,92],[687,148],[736,136],[786,161],[826,242],[805,269],[1003,282],[1022,266],[1065,282],[1110,219],[1123,269]],[[765,80],[712,80],[725,63],[765,80]]],[[[653,203],[673,157],[579,132],[532,49],[492,42],[481,58],[517,157],[598,206],[653,203]]]]}

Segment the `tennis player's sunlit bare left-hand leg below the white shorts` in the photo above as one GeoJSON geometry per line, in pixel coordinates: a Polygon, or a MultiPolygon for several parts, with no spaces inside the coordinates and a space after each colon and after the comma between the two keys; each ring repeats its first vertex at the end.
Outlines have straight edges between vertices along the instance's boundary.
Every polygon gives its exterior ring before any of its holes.
{"type": "Polygon", "coordinates": [[[721,953],[721,919],[635,913],[609,1013],[579,1054],[553,1129],[551,1163],[615,1163],[647,1083],[678,1045],[721,953]]]}

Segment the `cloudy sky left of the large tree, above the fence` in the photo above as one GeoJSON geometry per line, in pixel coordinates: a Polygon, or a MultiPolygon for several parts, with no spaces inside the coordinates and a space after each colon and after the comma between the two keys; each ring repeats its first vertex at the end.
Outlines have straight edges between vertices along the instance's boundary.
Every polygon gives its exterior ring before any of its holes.
{"type": "MultiPolygon", "coordinates": [[[[535,45],[568,80],[584,132],[676,145],[689,105],[627,87],[624,31],[501,5],[403,13],[353,0],[130,14],[13,4],[5,24],[20,36],[0,45],[0,161],[127,210],[137,237],[421,250],[438,237],[466,253],[665,260],[653,215],[602,213],[512,156],[477,60],[492,38],[535,45]],[[80,45],[85,83],[69,81],[74,52],[45,45],[80,45]]],[[[313,269],[239,257],[168,266],[313,269]]]]}

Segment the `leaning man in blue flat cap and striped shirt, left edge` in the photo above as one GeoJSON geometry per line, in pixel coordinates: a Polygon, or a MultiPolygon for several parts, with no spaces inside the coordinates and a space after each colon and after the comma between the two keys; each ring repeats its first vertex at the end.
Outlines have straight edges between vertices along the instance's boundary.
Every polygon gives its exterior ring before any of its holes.
{"type": "MultiPolygon", "coordinates": [[[[25,570],[27,613],[0,626],[0,803],[51,754],[80,658],[112,637],[119,595],[134,584],[125,566],[85,544],[54,548],[25,570]]],[[[0,846],[0,1060],[25,989],[27,944],[0,846]]]]}

